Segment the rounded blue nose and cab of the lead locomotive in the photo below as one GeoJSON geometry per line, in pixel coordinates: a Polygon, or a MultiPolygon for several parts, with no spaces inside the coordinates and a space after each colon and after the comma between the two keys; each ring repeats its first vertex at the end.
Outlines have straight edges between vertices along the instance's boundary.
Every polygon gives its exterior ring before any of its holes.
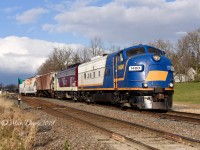
{"type": "Polygon", "coordinates": [[[173,66],[165,52],[146,45],[127,48],[115,58],[116,90],[140,109],[172,108],[173,66]],[[123,92],[124,91],[124,92],[123,92]]]}

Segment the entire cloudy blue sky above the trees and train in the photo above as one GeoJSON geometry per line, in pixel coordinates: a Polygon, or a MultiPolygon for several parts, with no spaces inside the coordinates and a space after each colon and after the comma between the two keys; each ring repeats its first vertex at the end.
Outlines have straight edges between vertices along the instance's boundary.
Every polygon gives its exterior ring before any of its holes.
{"type": "Polygon", "coordinates": [[[36,73],[55,47],[176,42],[200,27],[199,0],[1,0],[0,83],[36,73]]]}

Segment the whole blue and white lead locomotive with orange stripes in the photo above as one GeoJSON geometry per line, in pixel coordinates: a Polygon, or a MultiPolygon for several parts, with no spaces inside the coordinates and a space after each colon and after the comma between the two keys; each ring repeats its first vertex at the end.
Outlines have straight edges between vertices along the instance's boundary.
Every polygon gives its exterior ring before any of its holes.
{"type": "Polygon", "coordinates": [[[148,45],[97,57],[78,68],[79,97],[122,107],[169,110],[174,67],[165,52],[148,45]]]}

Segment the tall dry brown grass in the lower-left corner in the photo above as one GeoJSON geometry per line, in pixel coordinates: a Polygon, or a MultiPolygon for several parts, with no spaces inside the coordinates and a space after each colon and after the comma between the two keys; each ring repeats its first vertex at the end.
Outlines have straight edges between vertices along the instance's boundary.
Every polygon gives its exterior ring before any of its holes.
{"type": "Polygon", "coordinates": [[[0,97],[0,150],[30,149],[36,126],[28,124],[28,121],[35,119],[30,113],[15,107],[10,100],[0,97]]]}

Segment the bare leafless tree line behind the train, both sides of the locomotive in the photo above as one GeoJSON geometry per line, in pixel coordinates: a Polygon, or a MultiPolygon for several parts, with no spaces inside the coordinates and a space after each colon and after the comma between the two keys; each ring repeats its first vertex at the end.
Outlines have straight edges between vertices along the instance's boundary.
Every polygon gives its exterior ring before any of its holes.
{"type": "MultiPolygon", "coordinates": [[[[149,42],[165,51],[175,67],[174,74],[187,74],[189,68],[196,71],[195,80],[200,80],[200,28],[178,39],[177,43],[158,39],[149,42]]],[[[109,53],[120,50],[119,46],[111,45],[109,53]]],[[[69,65],[90,61],[92,57],[105,53],[104,42],[99,37],[90,40],[89,47],[74,50],[70,47],[54,48],[46,61],[38,68],[37,74],[65,70],[69,65]]]]}

